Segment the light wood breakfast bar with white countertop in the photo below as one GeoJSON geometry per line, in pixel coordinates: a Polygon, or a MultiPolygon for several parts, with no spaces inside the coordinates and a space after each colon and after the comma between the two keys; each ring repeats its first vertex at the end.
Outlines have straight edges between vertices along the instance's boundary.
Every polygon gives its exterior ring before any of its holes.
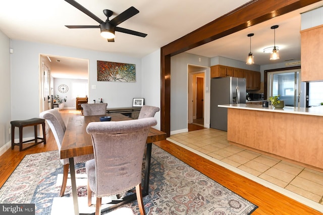
{"type": "Polygon", "coordinates": [[[323,106],[311,108],[257,104],[228,108],[228,141],[232,144],[323,169],[323,106]]]}

